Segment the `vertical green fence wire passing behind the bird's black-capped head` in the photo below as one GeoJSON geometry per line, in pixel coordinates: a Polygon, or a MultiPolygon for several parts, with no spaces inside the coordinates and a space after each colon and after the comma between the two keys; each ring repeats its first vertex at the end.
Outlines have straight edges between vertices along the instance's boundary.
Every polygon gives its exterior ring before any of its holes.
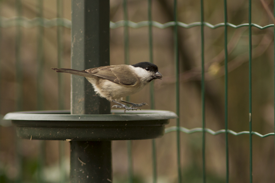
{"type": "MultiPolygon", "coordinates": [[[[149,61],[153,63],[153,32],[152,32],[152,0],[148,0],[148,20],[149,20],[149,61]]],[[[150,83],[150,105],[155,109],[154,81],[150,83]]],[[[156,140],[152,139],[152,169],[153,183],[157,182],[157,160],[156,160],[156,140]]]]}

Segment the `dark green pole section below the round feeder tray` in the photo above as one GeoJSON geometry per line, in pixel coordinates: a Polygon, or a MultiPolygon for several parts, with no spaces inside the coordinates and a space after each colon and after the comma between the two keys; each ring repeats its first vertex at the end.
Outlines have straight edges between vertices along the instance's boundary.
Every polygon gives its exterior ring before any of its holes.
{"type": "Polygon", "coordinates": [[[111,141],[71,141],[70,183],[112,182],[111,141]]]}

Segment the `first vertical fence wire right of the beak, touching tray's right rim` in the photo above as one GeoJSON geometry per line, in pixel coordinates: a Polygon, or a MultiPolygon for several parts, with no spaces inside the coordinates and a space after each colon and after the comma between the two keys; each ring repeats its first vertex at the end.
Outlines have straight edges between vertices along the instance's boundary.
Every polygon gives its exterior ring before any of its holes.
{"type": "MultiPolygon", "coordinates": [[[[177,0],[174,0],[174,22],[177,22],[177,0]]],[[[181,145],[180,145],[180,119],[179,119],[179,56],[178,56],[178,24],[174,26],[174,62],[175,62],[175,76],[176,76],[176,113],[178,118],[176,119],[177,125],[177,163],[178,163],[178,183],[182,182],[182,170],[181,170],[181,145]]]]}

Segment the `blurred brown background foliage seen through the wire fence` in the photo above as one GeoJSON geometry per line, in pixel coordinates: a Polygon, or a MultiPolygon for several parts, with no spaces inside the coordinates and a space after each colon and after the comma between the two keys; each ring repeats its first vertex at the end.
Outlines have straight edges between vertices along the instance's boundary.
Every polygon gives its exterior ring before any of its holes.
{"type": "MultiPolygon", "coordinates": [[[[22,16],[28,19],[38,15],[35,0],[22,0],[22,16]]],[[[17,16],[16,0],[1,0],[0,15],[17,16]]],[[[110,0],[110,20],[123,20],[122,0],[110,0]]],[[[273,1],[264,0],[273,11],[273,1]]],[[[42,16],[57,16],[56,0],[43,1],[42,16]]],[[[148,20],[147,0],[128,0],[128,19],[133,22],[148,20]]],[[[228,22],[235,25],[248,23],[248,1],[227,2],[228,22]]],[[[260,26],[273,24],[261,1],[252,1],[252,23],[260,26]]],[[[204,1],[205,22],[224,22],[223,1],[204,1]]],[[[63,18],[71,19],[71,1],[63,1],[63,18]]],[[[160,23],[173,21],[173,2],[152,1],[152,20],[160,23]]],[[[178,21],[200,21],[200,2],[178,1],[178,21]]],[[[43,105],[41,109],[58,109],[57,74],[50,67],[57,67],[57,27],[43,28],[43,105]]],[[[123,27],[110,30],[110,63],[124,63],[123,27]]],[[[274,132],[274,34],[273,27],[263,30],[252,27],[252,130],[261,134],[274,132]]],[[[18,96],[23,101],[20,110],[37,110],[37,59],[39,27],[21,27],[20,68],[22,92],[16,82],[17,27],[0,31],[0,113],[18,110],[18,96]]],[[[148,26],[129,28],[130,64],[149,61],[148,26]]],[[[205,99],[206,127],[214,131],[224,129],[224,27],[204,28],[205,34],[205,99]]],[[[70,29],[63,29],[63,67],[70,68],[70,29]]],[[[180,58],[180,123],[186,128],[201,127],[201,38],[200,27],[178,28],[180,58]]],[[[240,132],[249,131],[248,100],[248,27],[228,27],[228,127],[240,132]]],[[[175,65],[173,27],[153,27],[153,62],[159,66],[163,80],[155,81],[155,108],[175,111],[175,65]]],[[[64,74],[64,108],[70,107],[70,76],[64,74]]],[[[131,102],[147,102],[149,86],[130,96],[131,102]]],[[[144,109],[150,109],[145,106],[144,109]]],[[[0,182],[68,182],[69,143],[17,139],[15,129],[7,122],[0,126],[0,182]],[[45,150],[45,151],[44,151],[45,150]],[[60,154],[65,158],[60,159],[60,154]],[[62,162],[64,161],[64,162],[62,162]],[[61,162],[61,163],[60,163],[61,162]],[[59,167],[64,172],[60,172],[59,167]],[[62,175],[64,175],[62,177],[62,175]],[[65,178],[64,178],[65,177],[65,178]],[[62,179],[64,178],[64,179],[62,179]]],[[[175,126],[171,120],[169,126],[175,126]]],[[[127,143],[114,141],[114,182],[127,182],[127,143]]],[[[156,139],[158,182],[177,182],[176,133],[170,132],[156,139]]],[[[151,140],[132,142],[134,182],[152,182],[151,140]]],[[[207,182],[225,182],[225,135],[206,134],[207,182]]],[[[274,136],[253,136],[253,182],[274,182],[274,136]]],[[[202,134],[181,133],[181,165],[184,182],[202,182],[202,134]]],[[[249,136],[229,134],[229,180],[235,183],[249,181],[249,136]]]]}

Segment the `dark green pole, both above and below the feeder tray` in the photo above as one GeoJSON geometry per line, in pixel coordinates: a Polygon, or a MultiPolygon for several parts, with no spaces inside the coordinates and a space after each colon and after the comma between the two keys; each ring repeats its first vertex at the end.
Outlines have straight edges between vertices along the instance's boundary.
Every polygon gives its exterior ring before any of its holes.
{"type": "MultiPolygon", "coordinates": [[[[109,0],[72,0],[71,67],[109,65],[109,0]]],[[[110,103],[71,76],[71,114],[109,114],[110,103]]],[[[71,183],[112,182],[111,141],[71,141],[71,183]]]]}

